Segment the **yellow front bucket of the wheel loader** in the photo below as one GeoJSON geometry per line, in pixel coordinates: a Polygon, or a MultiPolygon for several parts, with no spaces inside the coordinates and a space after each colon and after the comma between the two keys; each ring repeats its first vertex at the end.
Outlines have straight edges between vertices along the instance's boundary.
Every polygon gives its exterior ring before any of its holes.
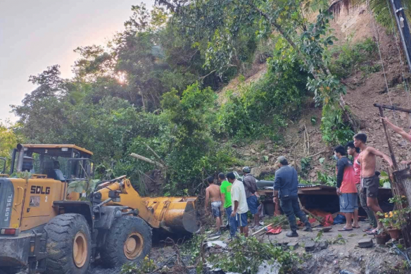
{"type": "Polygon", "coordinates": [[[172,233],[194,233],[198,230],[196,200],[197,197],[144,198],[160,226],[172,233]]]}

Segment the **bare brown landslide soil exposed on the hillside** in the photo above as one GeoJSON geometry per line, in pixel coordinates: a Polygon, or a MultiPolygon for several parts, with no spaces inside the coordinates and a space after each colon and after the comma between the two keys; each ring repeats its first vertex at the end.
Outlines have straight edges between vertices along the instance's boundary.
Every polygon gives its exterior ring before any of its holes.
{"type": "MultiPolygon", "coordinates": [[[[367,75],[367,77],[360,71],[355,72],[343,80],[347,87],[347,94],[343,98],[346,104],[350,106],[353,114],[362,121],[361,131],[369,136],[369,145],[389,155],[384,130],[378,118],[379,111],[373,104],[391,105],[392,102],[392,104],[397,106],[411,108],[405,86],[401,85],[403,82],[402,69],[406,72],[407,68],[400,64],[400,56],[398,54],[398,46],[400,44],[396,43],[393,35],[388,35],[386,30],[377,24],[376,31],[372,23],[373,20],[372,15],[369,14],[367,9],[362,7],[351,11],[349,14],[341,11],[339,17],[331,22],[331,28],[334,29],[333,35],[339,39],[336,45],[344,44],[347,39],[351,39],[355,43],[372,37],[380,46],[386,80],[382,69],[377,73],[367,75]],[[388,92],[386,81],[388,83],[388,92]]],[[[377,57],[376,63],[381,64],[379,56],[377,57]]],[[[254,66],[251,73],[246,75],[247,77],[243,85],[255,82],[266,71],[265,65],[254,66]]],[[[410,77],[409,73],[405,73],[404,77],[408,79],[410,77]]],[[[228,89],[234,89],[236,85],[239,85],[237,78],[219,92],[220,103],[223,104],[225,102],[225,92],[228,89]]],[[[289,125],[284,129],[284,142],[282,144],[275,145],[269,140],[259,140],[243,146],[241,144],[234,144],[238,152],[237,156],[244,160],[244,164],[255,167],[255,175],[266,175],[267,173],[274,172],[276,168],[274,166],[275,159],[280,155],[287,156],[290,161],[296,161],[299,165],[301,158],[324,151],[312,157],[312,170],[310,170],[309,178],[310,180],[316,180],[317,170],[330,171],[333,165],[333,161],[329,159],[329,156],[332,155],[332,148],[327,147],[322,141],[320,134],[321,110],[308,108],[302,111],[301,114],[301,119],[298,120],[298,123],[290,121],[289,125]],[[312,125],[311,118],[315,118],[315,125],[312,125]],[[304,141],[304,125],[307,127],[310,139],[309,152],[304,151],[304,144],[306,143],[304,141]],[[268,156],[269,161],[265,161],[266,158],[264,156],[268,156]],[[322,157],[325,158],[324,163],[318,161],[322,157]]],[[[405,113],[397,112],[396,119],[394,119],[393,111],[386,111],[386,116],[393,122],[396,121],[400,127],[408,128],[408,125],[410,125],[405,113]]],[[[398,162],[411,159],[411,144],[405,142],[399,135],[394,134],[392,130],[390,130],[390,134],[398,162]]],[[[237,167],[237,170],[239,168],[237,167]]],[[[386,170],[387,166],[378,159],[377,168],[386,170]]]]}

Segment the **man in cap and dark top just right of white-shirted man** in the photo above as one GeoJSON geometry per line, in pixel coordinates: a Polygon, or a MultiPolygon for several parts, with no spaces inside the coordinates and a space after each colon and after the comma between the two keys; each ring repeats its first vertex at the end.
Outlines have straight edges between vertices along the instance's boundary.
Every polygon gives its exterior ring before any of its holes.
{"type": "Polygon", "coordinates": [[[260,226],[260,216],[258,215],[258,199],[257,196],[255,196],[255,192],[257,191],[257,184],[255,183],[254,176],[250,174],[251,169],[248,166],[244,166],[243,173],[243,184],[244,189],[246,189],[248,210],[251,212],[251,214],[254,215],[254,225],[250,228],[257,228],[258,226],[260,226]]]}

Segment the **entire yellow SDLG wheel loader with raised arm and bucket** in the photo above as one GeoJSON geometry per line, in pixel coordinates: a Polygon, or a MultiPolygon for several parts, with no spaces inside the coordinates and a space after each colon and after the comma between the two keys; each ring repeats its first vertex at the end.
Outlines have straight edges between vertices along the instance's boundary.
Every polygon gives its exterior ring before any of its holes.
{"type": "Polygon", "coordinates": [[[0,177],[0,273],[84,274],[98,255],[109,267],[138,263],[152,228],[198,230],[196,197],[140,197],[125,176],[91,187],[91,156],[70,144],[14,149],[0,177]],[[69,193],[77,182],[85,191],[69,193]]]}

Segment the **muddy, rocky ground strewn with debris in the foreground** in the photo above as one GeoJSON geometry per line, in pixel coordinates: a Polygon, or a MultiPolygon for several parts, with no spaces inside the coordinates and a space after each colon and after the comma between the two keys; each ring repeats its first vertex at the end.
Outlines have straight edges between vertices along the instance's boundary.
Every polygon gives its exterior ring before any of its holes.
{"type": "MultiPolygon", "coordinates": [[[[405,259],[394,251],[393,248],[380,246],[376,243],[374,236],[367,235],[362,232],[362,229],[368,225],[366,222],[360,222],[361,228],[354,229],[350,232],[338,231],[343,225],[334,225],[329,232],[324,232],[319,239],[317,237],[318,231],[303,232],[298,231],[298,238],[286,237],[288,228],[284,228],[279,235],[260,235],[258,239],[262,242],[270,242],[272,244],[288,244],[290,242],[298,242],[298,247],[294,252],[303,260],[302,263],[296,266],[292,273],[303,274],[331,274],[340,273],[341,270],[347,270],[347,273],[352,274],[378,274],[378,273],[411,273],[411,270],[403,268],[405,259]],[[339,237],[343,241],[336,242],[339,237]],[[373,246],[369,248],[358,247],[360,239],[373,239],[373,246]],[[305,245],[309,242],[325,242],[329,244],[325,249],[317,247],[314,251],[306,251],[305,245]]],[[[208,230],[211,232],[211,230],[208,230]]],[[[253,231],[251,231],[253,232],[253,231]]],[[[178,239],[175,239],[177,242],[178,239]]],[[[229,244],[229,233],[225,231],[218,239],[229,244]]],[[[211,241],[211,240],[210,240],[211,241]]],[[[182,239],[179,240],[178,249],[181,252],[183,247],[181,245],[182,239]]],[[[317,244],[318,245],[318,244],[317,244]]],[[[150,259],[156,263],[158,268],[163,268],[156,273],[176,273],[173,266],[177,261],[177,254],[175,247],[171,244],[158,241],[151,249],[150,259]],[[165,267],[164,267],[165,266],[165,267]]],[[[182,261],[186,266],[192,264],[191,257],[182,253],[182,261]]],[[[179,268],[177,268],[179,269],[179,268]]],[[[180,269],[181,270],[181,269],[180,269]]],[[[90,274],[117,274],[120,273],[120,268],[104,269],[99,267],[98,262],[91,267],[90,274]]],[[[189,273],[196,273],[194,268],[189,269],[189,273]]],[[[213,271],[213,268],[205,270],[208,274],[222,274],[223,270],[213,271]]],[[[265,274],[274,274],[277,272],[268,272],[265,274]]]]}

